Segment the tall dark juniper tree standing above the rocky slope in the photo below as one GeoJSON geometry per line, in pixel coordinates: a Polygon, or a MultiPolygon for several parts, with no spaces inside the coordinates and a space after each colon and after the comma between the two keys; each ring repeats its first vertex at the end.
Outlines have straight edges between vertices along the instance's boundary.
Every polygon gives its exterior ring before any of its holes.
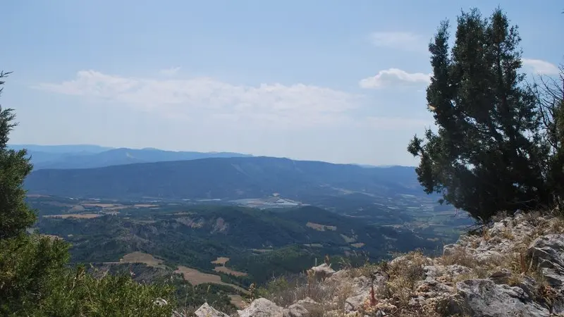
{"type": "Polygon", "coordinates": [[[438,129],[407,147],[420,157],[419,182],[480,221],[548,204],[541,118],[520,73],[517,27],[500,9],[489,18],[462,12],[452,49],[448,28],[441,23],[429,44],[427,106],[438,129]]]}

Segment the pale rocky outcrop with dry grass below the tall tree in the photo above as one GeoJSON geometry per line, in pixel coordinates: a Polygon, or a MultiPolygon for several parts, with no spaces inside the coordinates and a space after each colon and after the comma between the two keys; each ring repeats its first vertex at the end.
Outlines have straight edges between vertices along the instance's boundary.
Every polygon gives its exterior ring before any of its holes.
{"type": "Polygon", "coordinates": [[[311,273],[314,282],[295,294],[313,298],[281,306],[255,299],[238,316],[564,316],[564,220],[517,214],[462,235],[434,259],[415,251],[363,268],[321,264],[311,273]]]}

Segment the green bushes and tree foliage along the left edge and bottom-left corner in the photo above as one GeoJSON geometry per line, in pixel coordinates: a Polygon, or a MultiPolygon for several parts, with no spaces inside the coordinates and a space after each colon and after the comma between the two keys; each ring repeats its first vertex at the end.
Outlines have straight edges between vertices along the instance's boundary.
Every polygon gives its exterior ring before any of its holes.
{"type": "Polygon", "coordinates": [[[32,166],[25,150],[6,146],[14,118],[11,109],[0,108],[0,315],[171,316],[173,303],[154,304],[170,300],[171,287],[141,285],[128,275],[94,278],[82,267],[67,267],[66,242],[26,234],[35,214],[22,185],[32,166]]]}

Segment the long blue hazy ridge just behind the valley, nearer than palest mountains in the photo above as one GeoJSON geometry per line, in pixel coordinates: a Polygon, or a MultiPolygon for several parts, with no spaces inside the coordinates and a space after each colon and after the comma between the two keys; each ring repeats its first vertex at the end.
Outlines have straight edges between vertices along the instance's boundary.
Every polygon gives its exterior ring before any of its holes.
{"type": "Polygon", "coordinates": [[[271,157],[137,163],[88,169],[35,170],[31,194],[119,199],[290,199],[350,194],[422,195],[414,168],[362,168],[271,157]]]}

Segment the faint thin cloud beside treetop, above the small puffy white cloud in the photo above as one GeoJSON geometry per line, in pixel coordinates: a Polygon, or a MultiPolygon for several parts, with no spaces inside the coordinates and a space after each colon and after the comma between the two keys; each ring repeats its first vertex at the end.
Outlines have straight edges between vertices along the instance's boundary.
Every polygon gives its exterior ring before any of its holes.
{"type": "Polygon", "coordinates": [[[370,35],[376,47],[389,47],[404,51],[427,51],[425,39],[412,32],[374,32],[370,35]]]}

